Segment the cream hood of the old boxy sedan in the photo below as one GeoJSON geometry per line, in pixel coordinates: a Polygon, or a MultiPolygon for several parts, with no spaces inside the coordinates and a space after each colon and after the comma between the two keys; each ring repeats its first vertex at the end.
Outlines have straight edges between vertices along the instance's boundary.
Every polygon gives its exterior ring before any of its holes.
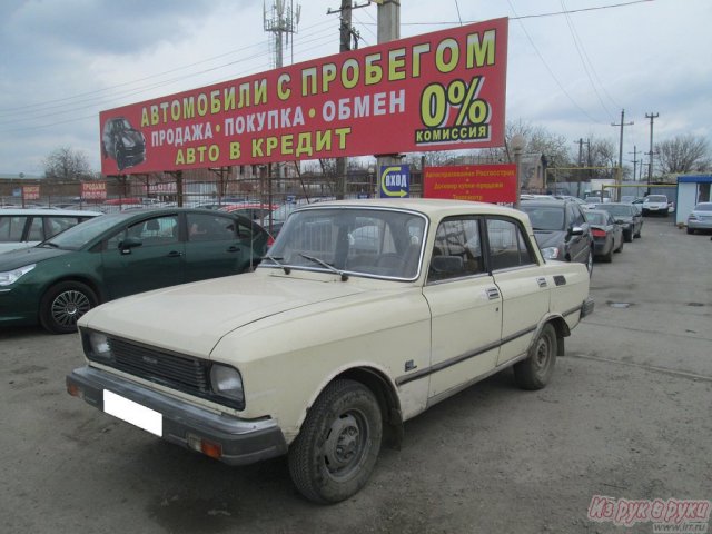
{"type": "Polygon", "coordinates": [[[365,290],[330,275],[246,273],[107,303],[87,313],[79,326],[206,357],[220,338],[241,326],[365,290]]]}

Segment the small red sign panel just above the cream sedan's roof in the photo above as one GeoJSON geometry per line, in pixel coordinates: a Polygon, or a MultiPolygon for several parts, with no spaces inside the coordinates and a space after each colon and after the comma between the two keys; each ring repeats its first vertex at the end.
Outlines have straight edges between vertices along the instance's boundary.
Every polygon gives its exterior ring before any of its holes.
{"type": "Polygon", "coordinates": [[[516,165],[426,167],[423,170],[423,197],[491,204],[514,202],[516,165]]]}

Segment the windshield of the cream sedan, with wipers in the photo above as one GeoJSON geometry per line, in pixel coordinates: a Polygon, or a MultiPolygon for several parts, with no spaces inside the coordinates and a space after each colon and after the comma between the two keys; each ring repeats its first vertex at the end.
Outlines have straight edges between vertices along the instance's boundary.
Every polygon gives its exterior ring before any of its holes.
{"type": "Polygon", "coordinates": [[[289,216],[260,268],[415,279],[421,269],[426,227],[426,218],[411,211],[304,209],[289,216]]]}

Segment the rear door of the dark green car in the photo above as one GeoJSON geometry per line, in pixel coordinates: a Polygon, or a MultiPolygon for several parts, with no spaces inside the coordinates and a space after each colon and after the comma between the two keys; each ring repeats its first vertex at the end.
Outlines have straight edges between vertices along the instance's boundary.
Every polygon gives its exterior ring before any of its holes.
{"type": "Polygon", "coordinates": [[[251,228],[227,214],[186,214],[186,281],[243,273],[251,257],[251,228]]]}

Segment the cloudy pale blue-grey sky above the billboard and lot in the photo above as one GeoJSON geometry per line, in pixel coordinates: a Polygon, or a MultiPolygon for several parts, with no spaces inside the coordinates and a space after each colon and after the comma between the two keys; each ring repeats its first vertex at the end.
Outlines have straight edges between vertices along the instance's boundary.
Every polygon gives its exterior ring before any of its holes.
{"type": "MultiPolygon", "coordinates": [[[[327,10],[339,4],[301,0],[285,65],[338,52],[338,16],[327,10]]],[[[565,136],[572,150],[580,138],[617,147],[611,123],[624,109],[634,122],[624,160],[649,149],[646,113],[659,113],[655,141],[691,134],[712,145],[710,0],[400,4],[402,37],[511,19],[507,121],[565,136]]],[[[353,13],[360,47],[376,44],[376,6],[353,13]]],[[[41,175],[60,147],[99,170],[99,111],[269,70],[263,26],[261,0],[2,0],[0,175],[41,175]]]]}

